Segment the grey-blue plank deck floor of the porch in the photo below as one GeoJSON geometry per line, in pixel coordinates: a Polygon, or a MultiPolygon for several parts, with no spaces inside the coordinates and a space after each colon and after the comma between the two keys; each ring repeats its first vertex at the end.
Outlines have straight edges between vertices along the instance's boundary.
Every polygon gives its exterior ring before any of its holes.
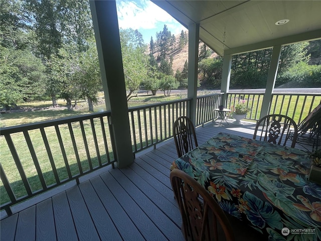
{"type": "MultiPolygon", "coordinates": [[[[199,144],[219,132],[252,138],[254,124],[197,130],[199,144]]],[[[184,240],[169,180],[173,140],[1,220],[1,240],[184,240]]],[[[58,193],[57,193],[58,192],[58,193]]],[[[48,194],[47,194],[48,195],[48,194]]],[[[44,195],[45,196],[45,195],[44,195]]]]}

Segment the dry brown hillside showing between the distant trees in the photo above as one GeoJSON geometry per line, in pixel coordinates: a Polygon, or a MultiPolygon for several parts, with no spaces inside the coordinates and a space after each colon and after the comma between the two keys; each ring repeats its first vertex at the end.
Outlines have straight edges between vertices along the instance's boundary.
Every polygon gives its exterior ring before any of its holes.
{"type": "MultiPolygon", "coordinates": [[[[177,69],[179,69],[180,71],[183,70],[185,61],[188,60],[188,52],[189,52],[189,43],[187,43],[180,51],[179,50],[180,35],[179,34],[176,35],[175,38],[176,38],[176,43],[173,46],[173,49],[170,49],[169,55],[167,56],[167,59],[170,59],[171,56],[173,57],[173,71],[174,71],[174,73],[176,72],[177,69]]],[[[201,46],[203,46],[202,41],[200,41],[200,43],[199,43],[199,52],[200,52],[201,46]]],[[[149,46],[148,46],[148,49],[149,49],[149,46]]],[[[154,53],[155,59],[157,59],[157,56],[158,56],[158,53],[156,50],[156,52],[154,53]]],[[[214,51],[212,51],[212,54],[209,58],[214,58],[216,56],[218,56],[218,55],[214,51]]]]}

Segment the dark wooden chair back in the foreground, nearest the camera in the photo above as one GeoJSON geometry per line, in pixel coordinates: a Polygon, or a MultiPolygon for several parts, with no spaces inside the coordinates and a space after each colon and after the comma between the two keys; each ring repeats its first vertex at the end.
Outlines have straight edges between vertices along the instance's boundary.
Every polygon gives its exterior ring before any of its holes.
{"type": "Polygon", "coordinates": [[[227,241],[234,240],[227,216],[201,184],[179,169],[171,172],[170,179],[182,214],[185,240],[218,240],[219,232],[227,241]]]}

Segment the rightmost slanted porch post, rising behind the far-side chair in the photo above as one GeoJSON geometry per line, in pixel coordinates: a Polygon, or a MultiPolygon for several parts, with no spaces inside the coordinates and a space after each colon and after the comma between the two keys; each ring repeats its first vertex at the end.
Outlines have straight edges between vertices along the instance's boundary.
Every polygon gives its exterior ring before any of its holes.
{"type": "Polygon", "coordinates": [[[272,93],[273,93],[273,89],[274,89],[274,85],[275,85],[277,69],[279,66],[281,50],[282,50],[281,45],[276,45],[273,47],[270,67],[269,67],[269,71],[268,71],[268,75],[267,75],[265,93],[263,96],[260,118],[269,114],[268,111],[269,111],[270,104],[272,101],[272,93]]]}

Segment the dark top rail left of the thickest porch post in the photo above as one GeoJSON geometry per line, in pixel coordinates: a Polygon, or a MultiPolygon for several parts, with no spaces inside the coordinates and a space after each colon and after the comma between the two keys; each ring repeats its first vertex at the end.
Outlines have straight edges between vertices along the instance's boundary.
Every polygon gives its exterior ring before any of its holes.
{"type": "Polygon", "coordinates": [[[51,127],[54,125],[62,125],[67,123],[73,123],[73,122],[79,122],[84,121],[85,119],[91,119],[91,118],[97,118],[101,116],[109,116],[111,115],[110,111],[102,111],[98,113],[91,113],[91,114],[83,114],[83,115],[77,115],[72,117],[64,117],[59,119],[51,119],[50,121],[43,121],[43,122],[35,122],[31,124],[23,124],[19,126],[12,126],[12,127],[4,127],[0,128],[0,135],[8,135],[23,131],[29,131],[29,130],[35,130],[39,128],[45,128],[45,127],[51,127]]]}

